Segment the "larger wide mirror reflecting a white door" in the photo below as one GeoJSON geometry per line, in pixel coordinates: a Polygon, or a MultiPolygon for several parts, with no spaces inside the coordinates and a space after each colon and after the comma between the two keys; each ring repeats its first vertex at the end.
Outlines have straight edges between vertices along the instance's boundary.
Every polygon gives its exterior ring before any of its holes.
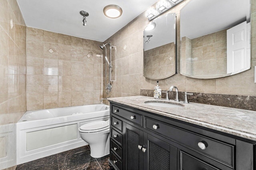
{"type": "Polygon", "coordinates": [[[250,69],[250,0],[190,0],[180,10],[180,73],[220,78],[250,69]]]}

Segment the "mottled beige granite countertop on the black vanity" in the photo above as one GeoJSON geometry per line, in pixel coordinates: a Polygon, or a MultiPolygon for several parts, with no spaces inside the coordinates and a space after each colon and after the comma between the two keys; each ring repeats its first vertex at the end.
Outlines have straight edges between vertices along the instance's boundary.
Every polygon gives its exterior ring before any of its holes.
{"type": "Polygon", "coordinates": [[[108,100],[256,141],[256,111],[198,103],[184,104],[173,100],[169,102],[182,104],[184,107],[150,106],[144,102],[166,100],[147,96],[108,98],[108,100]]]}

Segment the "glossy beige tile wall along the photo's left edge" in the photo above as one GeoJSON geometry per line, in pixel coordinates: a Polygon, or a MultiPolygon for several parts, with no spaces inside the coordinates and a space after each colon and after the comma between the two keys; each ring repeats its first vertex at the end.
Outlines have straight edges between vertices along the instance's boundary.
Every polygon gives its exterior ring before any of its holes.
{"type": "Polygon", "coordinates": [[[16,165],[14,123],[26,111],[26,25],[16,0],[0,0],[0,89],[0,169],[4,169],[16,165]]]}

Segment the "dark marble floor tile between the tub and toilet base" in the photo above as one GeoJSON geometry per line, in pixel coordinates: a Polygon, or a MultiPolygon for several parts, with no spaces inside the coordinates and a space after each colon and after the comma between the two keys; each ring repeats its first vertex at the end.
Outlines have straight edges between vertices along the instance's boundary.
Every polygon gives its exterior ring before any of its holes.
{"type": "Polygon", "coordinates": [[[76,149],[67,150],[65,152],[60,152],[60,153],[57,154],[58,160],[64,160],[66,158],[74,157],[76,155],[81,154],[81,152],[83,152],[83,153],[90,152],[90,149],[88,148],[88,145],[86,145],[84,147],[79,147],[79,148],[76,148],[76,149]]]}

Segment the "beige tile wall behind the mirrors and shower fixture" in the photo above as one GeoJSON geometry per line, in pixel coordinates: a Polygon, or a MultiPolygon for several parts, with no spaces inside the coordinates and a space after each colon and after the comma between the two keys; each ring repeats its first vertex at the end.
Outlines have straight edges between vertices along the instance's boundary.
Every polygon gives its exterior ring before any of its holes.
{"type": "MultiPolygon", "coordinates": [[[[189,0],[184,0],[178,6],[174,7],[170,12],[177,14],[177,56],[179,58],[179,37],[180,37],[180,9],[189,0]]],[[[149,80],[143,76],[143,29],[149,22],[145,17],[145,12],[132,20],[117,33],[112,35],[105,42],[111,42],[116,48],[116,82],[112,82],[113,90],[110,94],[103,93],[104,97],[120,97],[139,95],[140,88],[153,89],[156,80],[149,80]],[[127,46],[126,50],[123,49],[127,46]],[[136,61],[134,60],[136,57],[136,61]],[[132,72],[130,68],[136,67],[136,72],[132,72]]],[[[217,94],[238,94],[256,96],[256,83],[254,83],[254,68],[256,66],[256,1],[252,1],[252,68],[240,74],[217,79],[195,79],[175,74],[170,78],[159,80],[159,84],[164,90],[168,90],[170,86],[175,85],[180,91],[204,92],[217,94]]],[[[105,62],[105,60],[103,60],[105,62]]],[[[177,68],[180,70],[179,64],[177,68]]],[[[105,78],[103,78],[105,80],[105,78]]],[[[103,90],[105,85],[103,86],[103,90]]]]}

